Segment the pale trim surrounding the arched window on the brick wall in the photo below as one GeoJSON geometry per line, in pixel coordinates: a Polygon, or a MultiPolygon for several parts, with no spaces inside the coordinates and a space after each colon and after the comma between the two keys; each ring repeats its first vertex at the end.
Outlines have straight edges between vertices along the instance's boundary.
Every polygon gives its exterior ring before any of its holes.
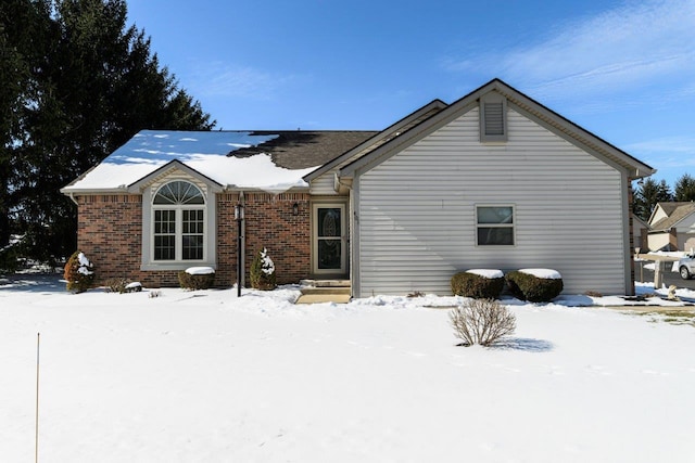
{"type": "Polygon", "coordinates": [[[188,267],[205,266],[216,269],[217,256],[217,210],[214,194],[210,188],[203,189],[200,183],[190,178],[172,177],[165,181],[157,183],[156,187],[148,187],[142,192],[142,249],[140,270],[185,270],[188,267]],[[154,205],[152,201],[160,187],[172,181],[186,181],[198,187],[205,201],[205,204],[192,205],[154,205]],[[182,234],[181,221],[182,214],[176,215],[177,246],[176,260],[154,260],[154,210],[159,209],[203,209],[203,259],[202,260],[182,260],[180,259],[180,236],[182,234]]]}

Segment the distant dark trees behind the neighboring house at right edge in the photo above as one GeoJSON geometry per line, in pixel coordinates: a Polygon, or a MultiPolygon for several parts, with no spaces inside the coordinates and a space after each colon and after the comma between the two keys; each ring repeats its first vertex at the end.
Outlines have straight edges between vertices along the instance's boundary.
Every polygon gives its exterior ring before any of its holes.
{"type": "Polygon", "coordinates": [[[695,201],[695,179],[688,173],[682,175],[673,190],[666,180],[656,181],[650,177],[634,190],[632,208],[642,220],[647,221],[657,203],[695,201]]]}

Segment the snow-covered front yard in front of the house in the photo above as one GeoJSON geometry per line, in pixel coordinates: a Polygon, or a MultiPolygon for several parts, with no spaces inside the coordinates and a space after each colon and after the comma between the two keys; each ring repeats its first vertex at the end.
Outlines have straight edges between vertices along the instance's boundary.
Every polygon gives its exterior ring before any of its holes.
{"type": "Polygon", "coordinates": [[[45,463],[695,461],[692,324],[508,300],[465,348],[453,297],[298,295],[0,281],[0,461],[34,461],[37,333],[45,463]]]}

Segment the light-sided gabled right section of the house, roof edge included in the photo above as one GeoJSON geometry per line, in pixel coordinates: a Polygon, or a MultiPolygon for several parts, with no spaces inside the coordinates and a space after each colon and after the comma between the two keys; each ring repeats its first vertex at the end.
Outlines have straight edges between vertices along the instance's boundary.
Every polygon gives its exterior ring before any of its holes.
{"type": "Polygon", "coordinates": [[[459,270],[528,267],[558,270],[568,293],[631,294],[629,189],[654,171],[494,79],[305,180],[351,191],[354,296],[450,294],[459,270]]]}

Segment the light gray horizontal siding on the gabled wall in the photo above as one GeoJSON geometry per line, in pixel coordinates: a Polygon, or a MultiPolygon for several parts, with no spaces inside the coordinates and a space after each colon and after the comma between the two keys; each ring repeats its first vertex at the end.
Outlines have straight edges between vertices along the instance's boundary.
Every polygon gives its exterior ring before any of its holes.
{"type": "Polygon", "coordinates": [[[621,176],[508,112],[508,141],[480,144],[473,110],[361,175],[359,295],[451,294],[458,270],[547,267],[566,293],[621,293],[621,176]],[[515,206],[515,246],[476,246],[476,205],[515,206]]]}

